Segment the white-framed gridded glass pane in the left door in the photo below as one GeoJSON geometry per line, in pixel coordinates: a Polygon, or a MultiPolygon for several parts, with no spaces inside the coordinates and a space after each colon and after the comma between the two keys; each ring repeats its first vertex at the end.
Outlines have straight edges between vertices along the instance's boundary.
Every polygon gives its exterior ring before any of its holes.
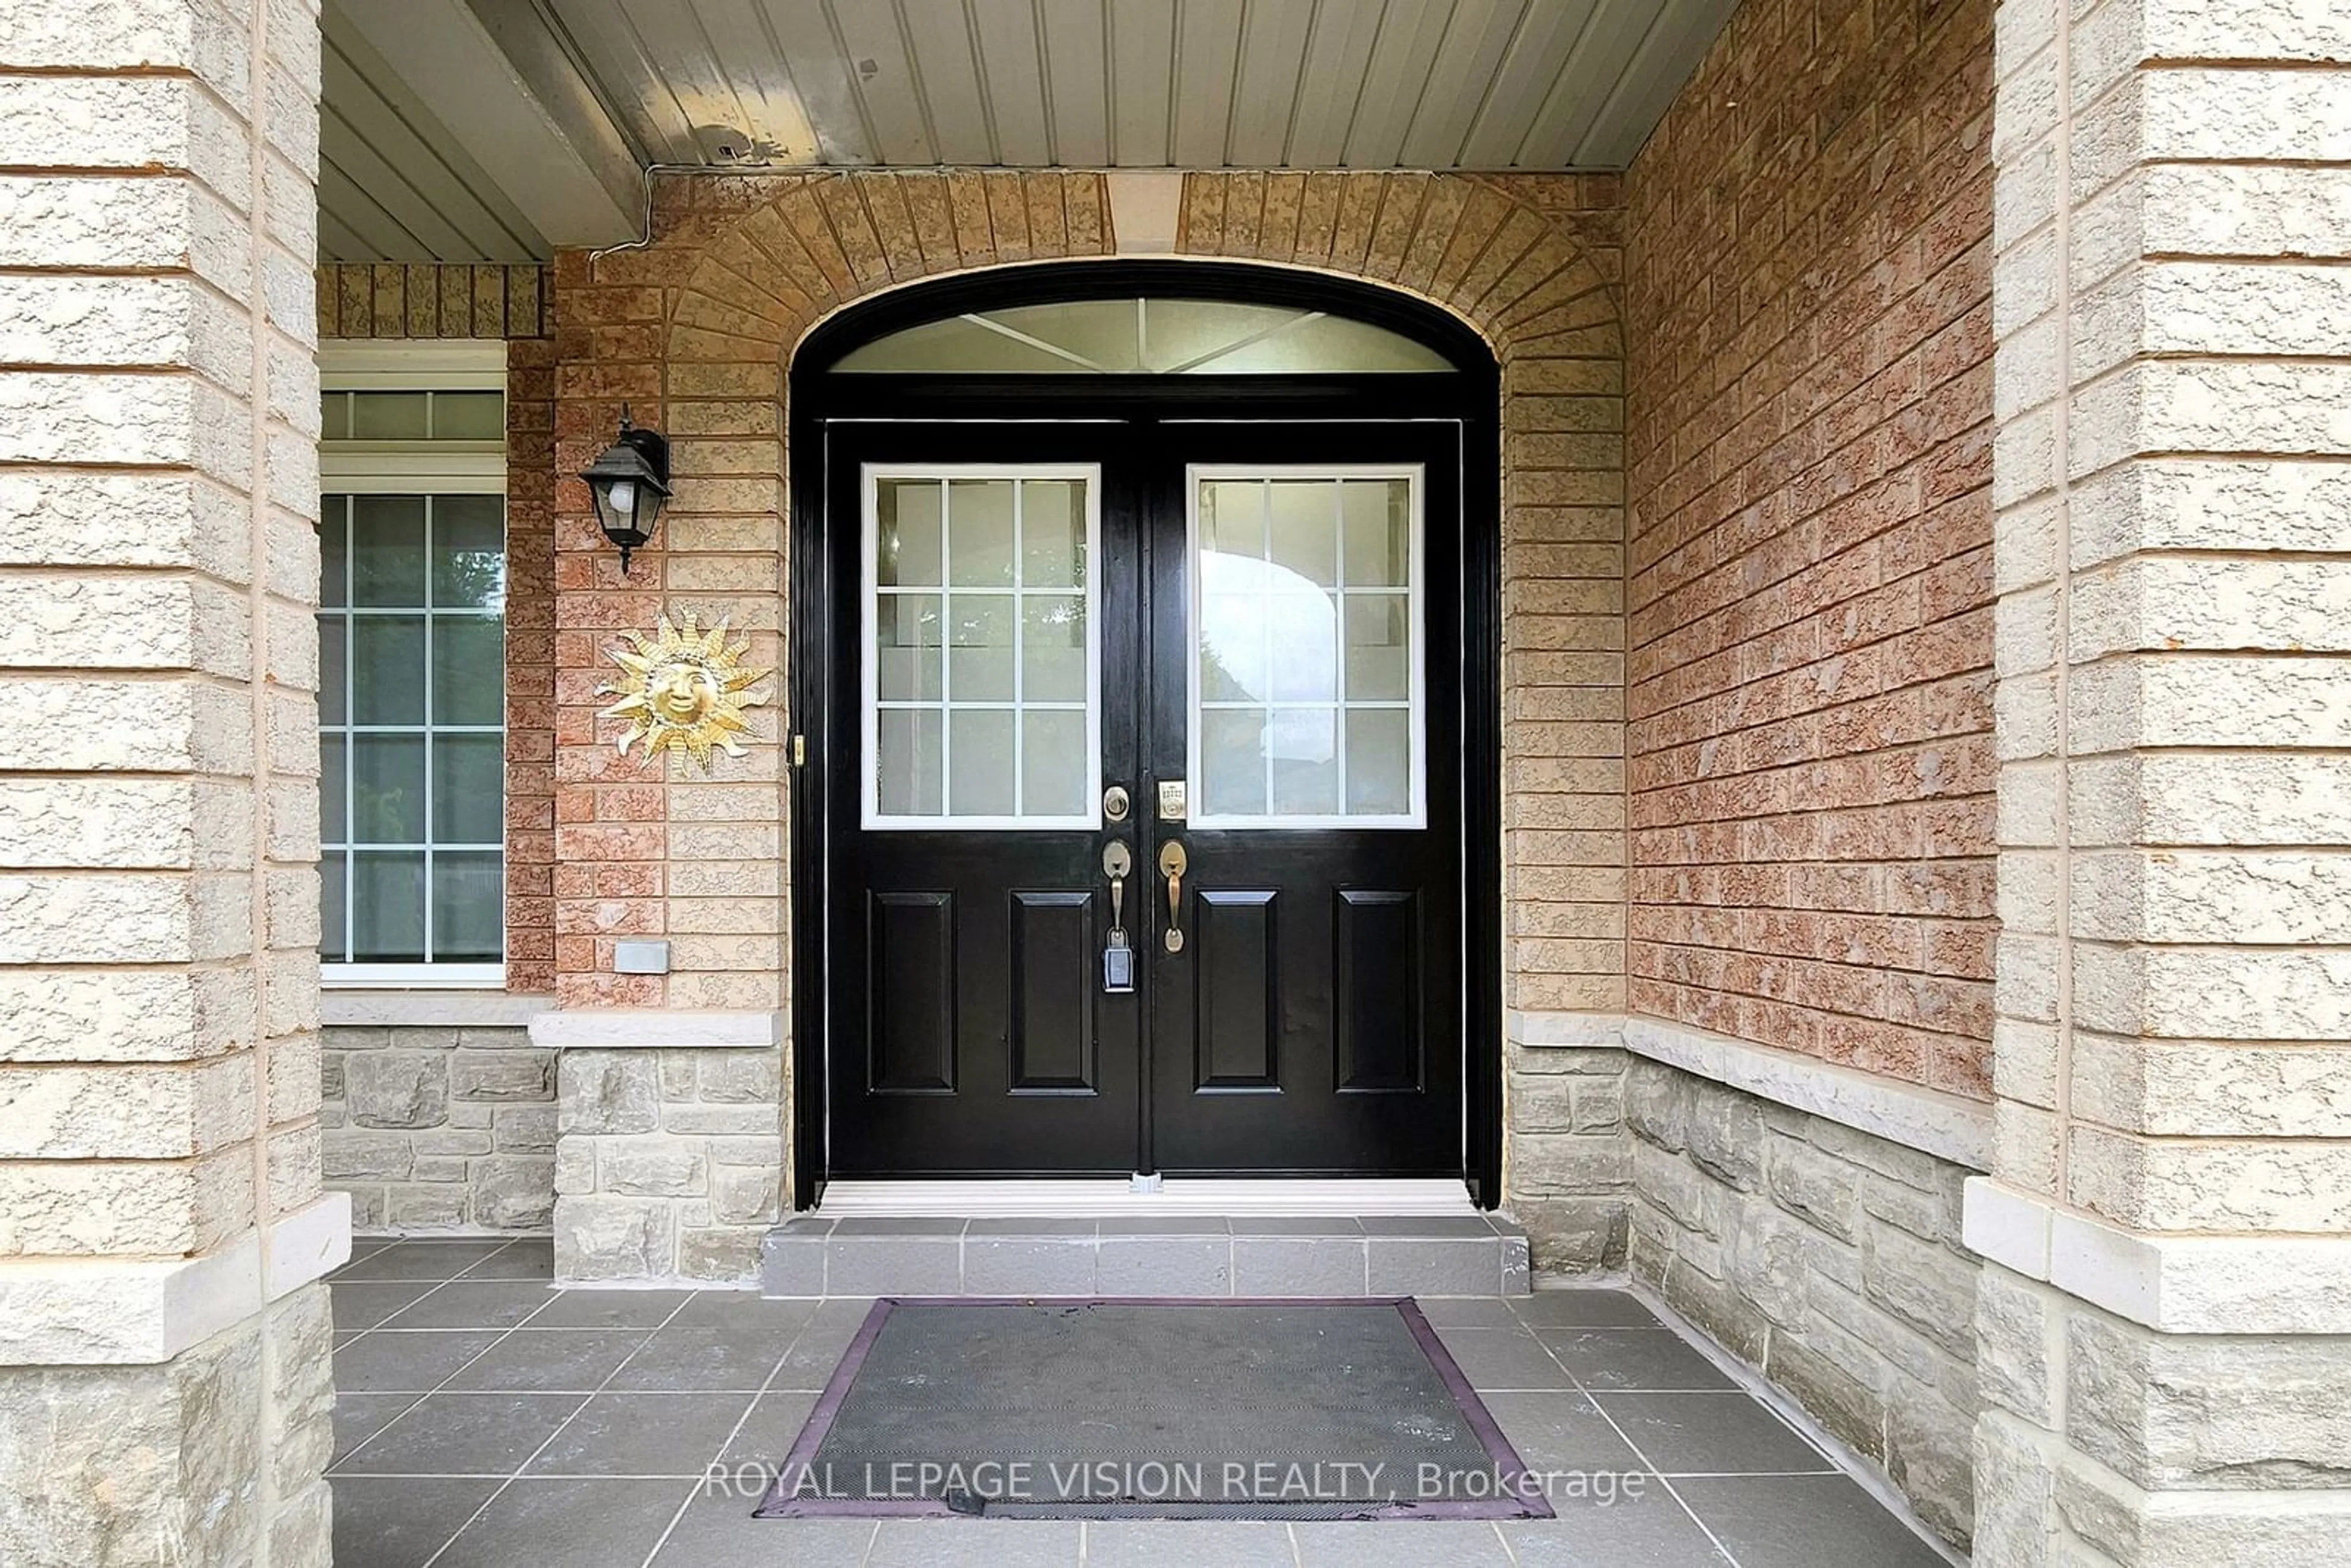
{"type": "Polygon", "coordinates": [[[1100,468],[863,465],[863,825],[1098,827],[1100,468]]]}

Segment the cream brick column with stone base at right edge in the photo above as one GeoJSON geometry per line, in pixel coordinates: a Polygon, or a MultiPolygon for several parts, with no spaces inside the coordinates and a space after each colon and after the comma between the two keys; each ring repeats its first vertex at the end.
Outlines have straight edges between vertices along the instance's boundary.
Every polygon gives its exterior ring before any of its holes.
{"type": "Polygon", "coordinates": [[[2351,9],[1998,9],[1977,1561],[2351,1561],[2351,9]]]}

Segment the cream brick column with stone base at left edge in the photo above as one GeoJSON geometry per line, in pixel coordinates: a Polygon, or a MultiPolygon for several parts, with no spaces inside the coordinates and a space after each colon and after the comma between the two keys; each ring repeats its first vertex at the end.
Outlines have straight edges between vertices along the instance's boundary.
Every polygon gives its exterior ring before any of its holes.
{"type": "Polygon", "coordinates": [[[0,1561],[327,1563],[315,0],[0,7],[0,1561]]]}

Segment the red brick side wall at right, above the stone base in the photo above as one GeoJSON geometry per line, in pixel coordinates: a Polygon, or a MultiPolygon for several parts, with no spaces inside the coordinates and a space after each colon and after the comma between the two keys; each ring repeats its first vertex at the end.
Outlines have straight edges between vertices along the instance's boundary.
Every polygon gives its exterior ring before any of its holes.
{"type": "Polygon", "coordinates": [[[1627,174],[1634,1011],[1989,1093],[1991,0],[1747,0],[1627,174]]]}

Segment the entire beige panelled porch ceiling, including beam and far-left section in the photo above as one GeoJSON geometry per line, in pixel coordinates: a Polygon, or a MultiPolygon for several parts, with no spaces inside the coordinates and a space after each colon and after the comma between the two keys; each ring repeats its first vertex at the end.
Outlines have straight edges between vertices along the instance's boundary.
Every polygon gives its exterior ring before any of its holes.
{"type": "Polygon", "coordinates": [[[630,237],[639,169],[1622,169],[1737,0],[327,0],[320,252],[630,237]]]}

